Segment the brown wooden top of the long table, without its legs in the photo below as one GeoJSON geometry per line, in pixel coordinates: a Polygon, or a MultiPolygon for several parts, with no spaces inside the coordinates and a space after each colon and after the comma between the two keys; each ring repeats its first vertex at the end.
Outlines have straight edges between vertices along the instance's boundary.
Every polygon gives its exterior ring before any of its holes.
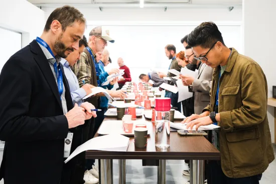
{"type": "MultiPolygon", "coordinates": [[[[103,121],[117,120],[116,117],[106,117],[103,121]]],[[[151,121],[144,115],[136,120],[151,121]]],[[[175,121],[180,122],[180,121],[175,121]]],[[[152,132],[148,136],[146,148],[135,148],[134,136],[129,136],[127,151],[86,151],[87,159],[193,159],[219,160],[220,152],[204,136],[183,136],[177,132],[170,133],[170,148],[161,150],[155,147],[155,128],[152,123],[152,132]]],[[[98,133],[94,137],[100,136],[98,133]]]]}

